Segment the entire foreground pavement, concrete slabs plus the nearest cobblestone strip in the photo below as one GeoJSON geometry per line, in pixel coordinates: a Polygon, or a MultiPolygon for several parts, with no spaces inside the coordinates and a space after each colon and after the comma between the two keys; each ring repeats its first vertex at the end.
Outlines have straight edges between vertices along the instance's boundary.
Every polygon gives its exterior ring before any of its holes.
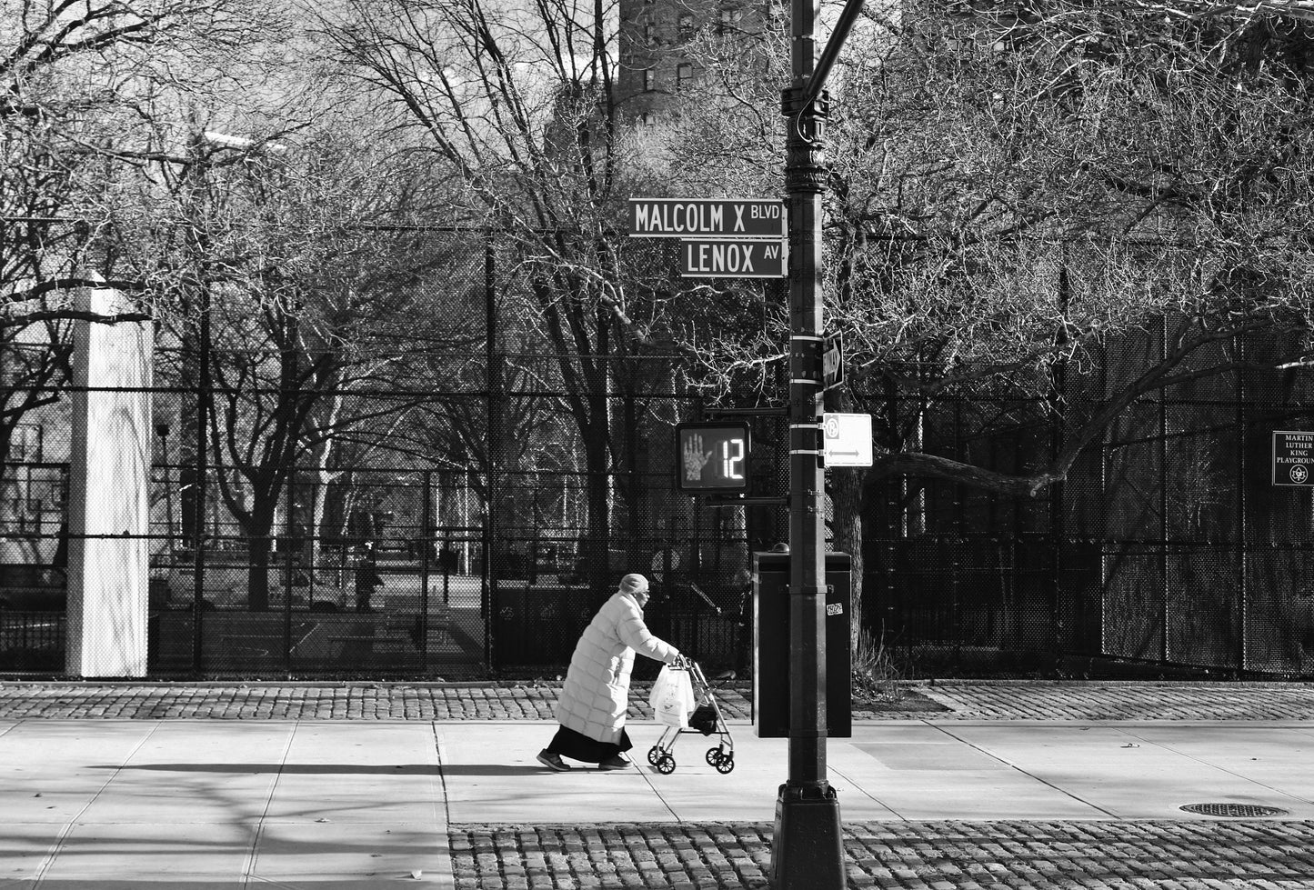
{"type": "MultiPolygon", "coordinates": [[[[0,887],[761,887],[786,743],[551,773],[544,721],[0,721],[0,887]]],[[[715,736],[714,736],[715,738],[715,736]]],[[[891,719],[829,742],[850,886],[1314,887],[1314,722],[891,719]],[[1188,803],[1273,807],[1222,822],[1188,803]]]]}

